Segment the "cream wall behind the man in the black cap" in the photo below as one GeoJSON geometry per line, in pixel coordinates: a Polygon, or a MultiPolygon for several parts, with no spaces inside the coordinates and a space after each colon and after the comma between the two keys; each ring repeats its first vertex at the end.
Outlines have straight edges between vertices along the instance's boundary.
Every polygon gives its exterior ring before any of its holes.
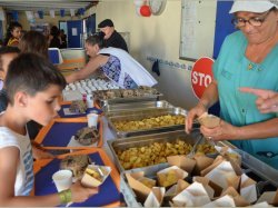
{"type": "MultiPolygon", "coordinates": [[[[148,57],[183,63],[186,68],[192,66],[192,62],[179,59],[181,0],[168,0],[162,14],[149,18],[136,13],[133,0],[102,0],[98,3],[96,13],[97,23],[110,18],[118,31],[130,32],[130,53],[147,69],[151,69],[152,63],[148,57]]],[[[160,77],[152,75],[159,81],[158,89],[168,101],[186,109],[196,105],[189,70],[160,65],[160,77]]]]}

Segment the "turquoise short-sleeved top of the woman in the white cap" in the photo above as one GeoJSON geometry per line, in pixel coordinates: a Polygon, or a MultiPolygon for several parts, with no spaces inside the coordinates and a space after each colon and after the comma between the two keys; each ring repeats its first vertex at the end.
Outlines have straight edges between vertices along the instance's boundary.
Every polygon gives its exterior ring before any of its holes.
{"type": "MultiPolygon", "coordinates": [[[[276,118],[276,113],[260,113],[257,97],[239,91],[240,87],[261,88],[278,91],[278,46],[260,63],[245,56],[247,39],[241,31],[228,36],[214,65],[218,82],[220,117],[234,126],[262,122],[276,118]]],[[[259,52],[259,51],[258,51],[259,52]]],[[[278,153],[278,137],[231,141],[238,148],[278,169],[278,156],[268,158],[260,151],[278,153]]]]}

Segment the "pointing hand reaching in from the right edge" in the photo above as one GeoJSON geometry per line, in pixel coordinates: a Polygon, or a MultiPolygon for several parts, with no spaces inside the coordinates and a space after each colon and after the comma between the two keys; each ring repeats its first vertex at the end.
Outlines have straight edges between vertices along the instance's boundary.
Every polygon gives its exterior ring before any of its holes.
{"type": "Polygon", "coordinates": [[[261,113],[278,112],[278,93],[272,90],[240,88],[241,92],[257,96],[256,105],[261,113]]]}

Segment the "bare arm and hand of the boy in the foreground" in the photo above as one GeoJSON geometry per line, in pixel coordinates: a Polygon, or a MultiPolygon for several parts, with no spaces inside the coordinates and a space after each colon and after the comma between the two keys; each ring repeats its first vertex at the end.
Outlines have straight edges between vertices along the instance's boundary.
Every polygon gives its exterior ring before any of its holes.
{"type": "MultiPolygon", "coordinates": [[[[61,194],[47,196],[14,196],[14,184],[17,178],[17,167],[20,158],[17,147],[0,149],[0,207],[53,207],[62,204],[61,194]],[[8,158],[8,159],[7,159],[8,158]]],[[[98,189],[85,188],[80,182],[76,182],[70,188],[71,201],[81,202],[90,196],[96,195],[98,189]]]]}

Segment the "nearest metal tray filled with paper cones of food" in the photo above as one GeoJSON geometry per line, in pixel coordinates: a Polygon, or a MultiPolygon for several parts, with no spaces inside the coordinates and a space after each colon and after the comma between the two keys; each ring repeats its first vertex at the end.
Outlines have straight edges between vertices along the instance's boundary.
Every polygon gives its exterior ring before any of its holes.
{"type": "Polygon", "coordinates": [[[277,206],[278,171],[247,152],[234,150],[241,157],[240,172],[220,155],[199,174],[170,164],[122,171],[121,192],[127,206],[277,206]],[[186,175],[180,175],[182,171],[186,175]]]}

